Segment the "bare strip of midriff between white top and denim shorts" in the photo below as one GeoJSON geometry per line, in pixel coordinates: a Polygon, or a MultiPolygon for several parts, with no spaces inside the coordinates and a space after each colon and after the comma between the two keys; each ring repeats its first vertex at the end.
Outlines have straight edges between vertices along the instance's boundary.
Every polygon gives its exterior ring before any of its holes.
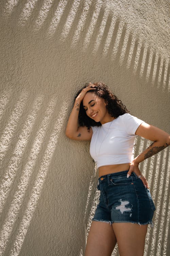
{"type": "Polygon", "coordinates": [[[103,175],[107,175],[114,172],[122,172],[129,170],[130,163],[121,163],[119,165],[105,165],[99,167],[99,177],[103,175]]]}

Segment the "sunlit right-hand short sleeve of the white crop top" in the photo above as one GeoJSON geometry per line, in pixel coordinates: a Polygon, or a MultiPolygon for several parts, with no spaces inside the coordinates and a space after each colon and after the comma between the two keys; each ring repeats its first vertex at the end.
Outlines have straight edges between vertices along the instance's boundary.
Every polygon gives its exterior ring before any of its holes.
{"type": "Polygon", "coordinates": [[[132,116],[129,113],[122,115],[122,121],[127,133],[130,135],[135,135],[135,132],[139,125],[141,125],[141,123],[144,122],[141,119],[132,116]]]}

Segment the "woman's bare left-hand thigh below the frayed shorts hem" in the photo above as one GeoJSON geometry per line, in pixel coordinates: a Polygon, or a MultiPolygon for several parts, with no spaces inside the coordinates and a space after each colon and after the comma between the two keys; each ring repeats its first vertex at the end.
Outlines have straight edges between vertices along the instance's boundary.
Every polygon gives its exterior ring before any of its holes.
{"type": "Polygon", "coordinates": [[[111,256],[116,242],[112,225],[106,222],[92,221],[85,256],[111,256]]]}

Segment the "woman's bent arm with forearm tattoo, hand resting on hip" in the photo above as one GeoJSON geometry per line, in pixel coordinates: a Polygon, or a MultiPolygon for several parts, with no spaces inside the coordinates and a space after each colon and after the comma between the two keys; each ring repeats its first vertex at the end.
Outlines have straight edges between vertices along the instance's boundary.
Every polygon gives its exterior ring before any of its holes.
{"type": "MultiPolygon", "coordinates": [[[[128,171],[129,176],[132,172],[135,172],[137,176],[141,175],[140,179],[142,180],[143,184],[148,187],[148,182],[144,176],[142,176],[140,170],[139,170],[139,163],[143,160],[157,154],[159,151],[163,150],[167,146],[170,145],[170,135],[155,127],[152,125],[149,125],[147,123],[142,123],[137,128],[136,135],[139,135],[145,139],[153,141],[153,143],[140,155],[134,158],[134,160],[131,163],[130,169],[128,171]]],[[[128,176],[127,176],[128,177],[128,176]]]]}

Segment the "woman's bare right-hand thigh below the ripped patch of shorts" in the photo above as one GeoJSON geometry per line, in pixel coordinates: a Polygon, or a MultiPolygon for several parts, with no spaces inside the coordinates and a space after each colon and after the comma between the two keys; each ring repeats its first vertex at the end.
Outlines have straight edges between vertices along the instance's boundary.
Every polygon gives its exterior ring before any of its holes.
{"type": "Polygon", "coordinates": [[[148,225],[113,223],[120,256],[143,256],[148,225]]]}

